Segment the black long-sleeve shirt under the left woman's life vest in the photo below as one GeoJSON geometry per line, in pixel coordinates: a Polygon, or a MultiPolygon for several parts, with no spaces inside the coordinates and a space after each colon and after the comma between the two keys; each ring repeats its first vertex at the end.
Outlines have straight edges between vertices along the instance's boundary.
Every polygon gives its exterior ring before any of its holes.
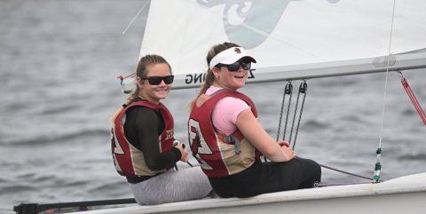
{"type": "MultiPolygon", "coordinates": [[[[137,99],[135,101],[139,101],[137,99]]],[[[130,107],[126,112],[124,134],[133,147],[138,148],[144,154],[146,166],[150,170],[169,169],[181,158],[181,153],[176,147],[172,147],[169,153],[160,153],[159,136],[164,131],[162,114],[149,107],[130,107]]],[[[127,178],[130,183],[152,178],[127,178]]]]}

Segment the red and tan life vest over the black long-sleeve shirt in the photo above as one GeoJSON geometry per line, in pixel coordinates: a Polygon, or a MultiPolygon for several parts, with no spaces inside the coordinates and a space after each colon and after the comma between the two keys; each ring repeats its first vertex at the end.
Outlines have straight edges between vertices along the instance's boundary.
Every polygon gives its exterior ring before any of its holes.
{"type": "Polygon", "coordinates": [[[158,105],[148,101],[137,101],[123,107],[114,119],[111,129],[111,149],[113,153],[115,170],[122,176],[154,176],[165,170],[149,170],[147,168],[144,155],[136,147],[133,147],[124,135],[124,123],[126,121],[126,111],[130,107],[149,107],[160,111],[164,120],[164,131],[159,136],[159,146],[161,153],[168,153],[173,145],[173,117],[169,109],[159,103],[158,105]]]}

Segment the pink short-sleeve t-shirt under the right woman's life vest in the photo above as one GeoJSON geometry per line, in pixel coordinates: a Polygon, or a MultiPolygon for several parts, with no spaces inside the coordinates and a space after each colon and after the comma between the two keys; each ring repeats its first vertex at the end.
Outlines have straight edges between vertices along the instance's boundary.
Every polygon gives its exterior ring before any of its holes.
{"type": "MultiPolygon", "coordinates": [[[[222,88],[210,86],[206,91],[206,95],[211,95],[212,93],[221,89],[222,88]]],[[[241,99],[232,97],[220,99],[213,108],[213,113],[211,115],[213,125],[220,133],[230,135],[237,130],[235,123],[237,122],[238,115],[247,109],[250,109],[250,107],[245,101],[241,99]]]]}

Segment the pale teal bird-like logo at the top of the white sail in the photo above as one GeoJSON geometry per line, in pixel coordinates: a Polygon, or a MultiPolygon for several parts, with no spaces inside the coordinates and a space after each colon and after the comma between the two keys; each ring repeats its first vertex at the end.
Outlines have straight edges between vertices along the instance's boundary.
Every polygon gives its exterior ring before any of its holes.
{"type": "MultiPolygon", "coordinates": [[[[208,8],[225,5],[222,19],[229,42],[253,49],[272,34],[288,4],[297,1],[301,0],[197,0],[197,3],[208,8]]],[[[339,1],[327,0],[330,4],[339,1]]]]}

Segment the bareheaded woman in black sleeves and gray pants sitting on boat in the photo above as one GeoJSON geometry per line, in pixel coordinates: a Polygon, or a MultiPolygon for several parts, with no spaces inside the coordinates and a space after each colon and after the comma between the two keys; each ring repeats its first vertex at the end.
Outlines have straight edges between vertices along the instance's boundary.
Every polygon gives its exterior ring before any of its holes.
{"type": "Polygon", "coordinates": [[[173,116],[162,105],[170,92],[170,64],[158,55],[138,62],[136,89],[113,115],[111,147],[114,166],[125,176],[140,205],[206,197],[211,186],[200,167],[174,170],[187,162],[182,144],[173,137],[173,116]]]}

